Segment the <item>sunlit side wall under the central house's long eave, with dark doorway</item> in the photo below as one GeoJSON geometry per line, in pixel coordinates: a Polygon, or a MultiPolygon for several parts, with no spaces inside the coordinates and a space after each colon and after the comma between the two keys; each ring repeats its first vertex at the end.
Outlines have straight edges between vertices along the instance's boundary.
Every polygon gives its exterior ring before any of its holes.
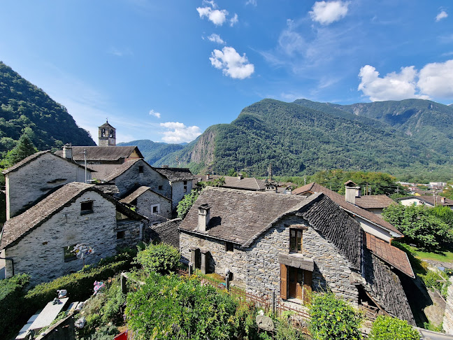
{"type": "Polygon", "coordinates": [[[225,275],[225,269],[229,268],[233,273],[233,281],[236,285],[245,285],[247,276],[247,253],[237,244],[234,244],[233,252],[225,248],[225,242],[208,236],[196,236],[187,232],[180,232],[180,249],[181,256],[186,260],[191,260],[190,248],[200,248],[209,250],[208,263],[206,269],[208,272],[225,275]]]}

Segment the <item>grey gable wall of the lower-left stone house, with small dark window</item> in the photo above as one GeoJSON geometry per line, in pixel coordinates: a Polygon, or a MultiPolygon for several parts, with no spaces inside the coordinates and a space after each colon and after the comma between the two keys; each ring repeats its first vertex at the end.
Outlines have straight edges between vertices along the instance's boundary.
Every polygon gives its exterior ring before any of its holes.
{"type": "MultiPolygon", "coordinates": [[[[115,212],[112,202],[96,192],[85,192],[71,206],[64,207],[15,246],[6,249],[5,255],[13,257],[15,273],[31,275],[32,284],[78,271],[82,269],[82,260],[64,262],[64,247],[77,243],[92,246],[94,253],[85,257],[85,264],[114,255],[117,245],[115,212]],[[93,201],[92,213],[80,215],[83,201],[93,201]]],[[[10,262],[7,265],[9,267],[10,262]]]]}

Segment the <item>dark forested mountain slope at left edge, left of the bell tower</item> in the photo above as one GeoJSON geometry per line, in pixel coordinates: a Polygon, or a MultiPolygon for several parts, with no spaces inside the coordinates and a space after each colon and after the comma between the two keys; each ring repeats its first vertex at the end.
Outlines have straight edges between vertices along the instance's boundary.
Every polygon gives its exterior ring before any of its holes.
{"type": "Polygon", "coordinates": [[[38,150],[64,143],[96,145],[64,106],[0,62],[0,157],[15,146],[27,127],[38,150]]]}

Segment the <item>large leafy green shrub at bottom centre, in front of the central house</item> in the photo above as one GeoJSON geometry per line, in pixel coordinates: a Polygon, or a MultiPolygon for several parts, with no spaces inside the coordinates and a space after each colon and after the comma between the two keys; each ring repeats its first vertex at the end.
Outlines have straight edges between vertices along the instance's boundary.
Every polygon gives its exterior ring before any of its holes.
{"type": "Polygon", "coordinates": [[[150,272],[127,295],[125,314],[137,339],[231,339],[236,302],[198,278],[150,272]]]}

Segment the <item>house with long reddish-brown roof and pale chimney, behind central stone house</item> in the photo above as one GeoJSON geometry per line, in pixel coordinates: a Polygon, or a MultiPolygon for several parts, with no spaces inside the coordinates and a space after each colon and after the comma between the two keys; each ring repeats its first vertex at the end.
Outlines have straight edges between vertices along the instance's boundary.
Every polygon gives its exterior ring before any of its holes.
{"type": "Polygon", "coordinates": [[[316,194],[317,192],[323,192],[332,201],[338,204],[340,208],[357,220],[364,232],[373,234],[388,243],[390,243],[391,239],[399,239],[403,237],[403,234],[398,232],[398,229],[396,229],[389,222],[380,218],[379,215],[375,215],[371,211],[367,211],[356,204],[350,203],[353,198],[357,197],[357,187],[346,186],[346,190],[347,192],[345,196],[342,196],[338,194],[338,192],[334,192],[326,187],[323,187],[322,185],[312,182],[307,185],[303,185],[302,187],[298,187],[292,191],[292,194],[310,197],[310,195],[316,194]]]}

